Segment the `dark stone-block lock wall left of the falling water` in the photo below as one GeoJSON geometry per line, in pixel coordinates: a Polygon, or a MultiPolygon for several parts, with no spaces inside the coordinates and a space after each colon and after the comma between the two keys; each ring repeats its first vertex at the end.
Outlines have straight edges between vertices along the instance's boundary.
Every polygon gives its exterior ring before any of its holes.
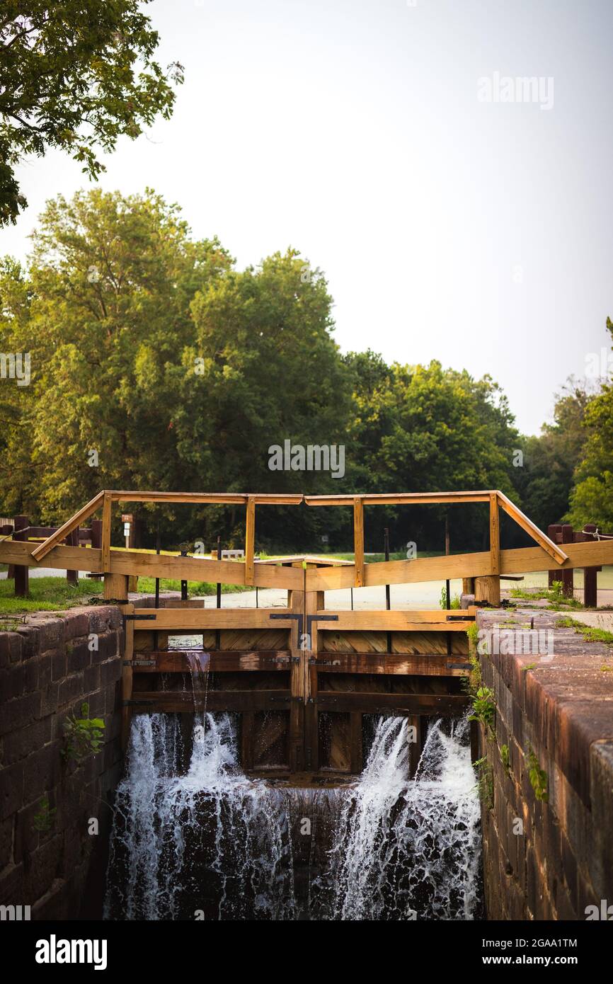
{"type": "Polygon", "coordinates": [[[36,613],[0,632],[0,904],[30,905],[32,919],[100,915],[123,644],[111,605],[36,613]],[[105,729],[103,748],[78,765],[61,754],[63,723],[84,702],[105,729]]]}

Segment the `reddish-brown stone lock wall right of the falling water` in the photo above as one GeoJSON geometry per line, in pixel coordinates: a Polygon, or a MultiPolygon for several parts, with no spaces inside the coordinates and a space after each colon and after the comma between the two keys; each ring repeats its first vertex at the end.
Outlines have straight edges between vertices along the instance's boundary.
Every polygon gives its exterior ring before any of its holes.
{"type": "MultiPolygon", "coordinates": [[[[509,617],[482,611],[478,625],[508,630],[509,617]]],[[[583,920],[586,906],[606,900],[613,918],[613,672],[603,669],[613,668],[613,651],[557,628],[556,613],[517,618],[553,632],[554,653],[490,647],[481,656],[496,701],[496,741],[480,734],[487,917],[583,920]],[[546,802],[529,779],[530,747],[547,776],[546,802]]]]}

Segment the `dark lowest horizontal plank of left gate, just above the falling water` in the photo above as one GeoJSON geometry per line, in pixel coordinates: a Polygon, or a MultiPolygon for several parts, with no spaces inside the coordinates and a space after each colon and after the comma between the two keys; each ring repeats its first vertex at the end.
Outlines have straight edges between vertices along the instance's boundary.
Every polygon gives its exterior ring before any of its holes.
{"type": "Polygon", "coordinates": [[[135,714],[194,713],[194,710],[289,710],[288,690],[136,691],[135,714]]]}

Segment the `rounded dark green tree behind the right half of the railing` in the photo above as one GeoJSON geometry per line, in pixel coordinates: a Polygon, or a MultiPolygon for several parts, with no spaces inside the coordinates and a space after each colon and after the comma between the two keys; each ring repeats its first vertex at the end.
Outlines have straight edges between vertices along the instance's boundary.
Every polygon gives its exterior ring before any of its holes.
{"type": "MultiPolygon", "coordinates": [[[[359,448],[359,464],[351,472],[355,491],[500,488],[517,499],[512,461],[518,435],[507,400],[489,377],[473,380],[436,361],[387,366],[373,352],[350,353],[346,363],[353,380],[347,440],[359,448]]],[[[462,509],[462,523],[452,519],[456,547],[481,526],[477,512],[462,509]]],[[[440,548],[443,512],[378,512],[368,523],[375,537],[370,548],[381,547],[385,523],[411,539],[419,536],[419,549],[440,548]]]]}

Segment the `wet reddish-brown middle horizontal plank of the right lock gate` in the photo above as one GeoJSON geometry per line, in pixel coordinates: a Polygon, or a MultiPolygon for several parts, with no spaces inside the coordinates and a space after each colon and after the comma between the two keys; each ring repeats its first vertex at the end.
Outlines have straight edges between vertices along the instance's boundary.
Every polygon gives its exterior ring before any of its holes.
{"type": "Polygon", "coordinates": [[[327,652],[317,654],[318,673],[383,673],[403,676],[466,676],[468,656],[453,653],[327,652]]]}

